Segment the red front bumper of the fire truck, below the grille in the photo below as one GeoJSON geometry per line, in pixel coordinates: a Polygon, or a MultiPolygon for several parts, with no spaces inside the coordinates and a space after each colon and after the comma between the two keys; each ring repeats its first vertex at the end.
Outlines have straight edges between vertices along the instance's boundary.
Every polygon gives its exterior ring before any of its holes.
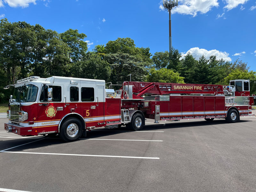
{"type": "Polygon", "coordinates": [[[4,130],[6,130],[6,132],[16,133],[21,136],[38,135],[37,128],[22,127],[22,126],[11,124],[11,123],[5,123],[4,130]]]}

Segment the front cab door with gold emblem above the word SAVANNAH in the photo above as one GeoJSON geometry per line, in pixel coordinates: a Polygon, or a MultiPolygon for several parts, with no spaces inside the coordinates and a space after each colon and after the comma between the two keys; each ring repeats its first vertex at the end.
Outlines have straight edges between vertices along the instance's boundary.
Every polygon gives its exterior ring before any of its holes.
{"type": "Polygon", "coordinates": [[[63,96],[63,85],[49,85],[52,88],[52,102],[47,101],[47,88],[41,87],[38,101],[38,133],[58,131],[60,119],[63,117],[65,100],[63,96]],[[45,91],[45,92],[44,92],[45,91]]]}

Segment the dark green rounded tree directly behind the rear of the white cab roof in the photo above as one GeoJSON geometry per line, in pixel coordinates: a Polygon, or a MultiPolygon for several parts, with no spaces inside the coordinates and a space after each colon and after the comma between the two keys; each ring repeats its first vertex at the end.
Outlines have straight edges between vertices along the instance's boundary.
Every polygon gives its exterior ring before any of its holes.
{"type": "Polygon", "coordinates": [[[104,79],[111,74],[109,63],[95,52],[87,52],[83,60],[77,61],[72,70],[72,76],[87,79],[104,79]]]}

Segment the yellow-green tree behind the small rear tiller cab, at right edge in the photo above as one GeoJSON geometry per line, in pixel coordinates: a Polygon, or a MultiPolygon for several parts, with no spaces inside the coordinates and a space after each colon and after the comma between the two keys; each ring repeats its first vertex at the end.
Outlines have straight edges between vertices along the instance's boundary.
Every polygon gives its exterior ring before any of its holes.
{"type": "Polygon", "coordinates": [[[229,84],[230,80],[248,79],[250,80],[250,94],[256,94],[256,72],[235,69],[224,78],[225,84],[229,84]]]}

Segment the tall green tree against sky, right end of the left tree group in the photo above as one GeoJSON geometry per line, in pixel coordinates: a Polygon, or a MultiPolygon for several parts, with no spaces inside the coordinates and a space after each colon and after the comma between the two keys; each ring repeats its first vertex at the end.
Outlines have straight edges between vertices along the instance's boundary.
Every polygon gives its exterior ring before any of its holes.
{"type": "Polygon", "coordinates": [[[68,29],[64,33],[60,34],[60,39],[68,44],[69,59],[72,61],[80,60],[87,51],[87,43],[84,38],[87,36],[84,33],[78,33],[77,29],[68,29]]]}

